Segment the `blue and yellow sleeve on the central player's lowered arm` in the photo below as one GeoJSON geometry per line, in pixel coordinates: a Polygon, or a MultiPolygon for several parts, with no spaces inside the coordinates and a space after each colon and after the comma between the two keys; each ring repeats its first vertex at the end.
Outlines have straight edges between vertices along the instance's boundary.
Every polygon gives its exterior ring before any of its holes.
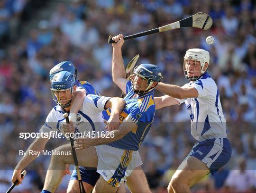
{"type": "Polygon", "coordinates": [[[151,123],[155,116],[155,102],[152,96],[145,97],[141,104],[130,109],[128,117],[137,125],[151,123]]]}

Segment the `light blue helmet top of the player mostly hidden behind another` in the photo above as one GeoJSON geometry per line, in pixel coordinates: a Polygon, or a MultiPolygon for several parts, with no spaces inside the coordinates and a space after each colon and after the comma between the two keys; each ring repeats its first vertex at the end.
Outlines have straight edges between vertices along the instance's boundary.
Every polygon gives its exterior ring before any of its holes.
{"type": "Polygon", "coordinates": [[[71,61],[63,61],[59,64],[55,65],[49,73],[50,82],[52,81],[53,77],[56,73],[61,71],[68,71],[74,74],[75,80],[77,78],[77,69],[74,67],[73,63],[71,61]]]}

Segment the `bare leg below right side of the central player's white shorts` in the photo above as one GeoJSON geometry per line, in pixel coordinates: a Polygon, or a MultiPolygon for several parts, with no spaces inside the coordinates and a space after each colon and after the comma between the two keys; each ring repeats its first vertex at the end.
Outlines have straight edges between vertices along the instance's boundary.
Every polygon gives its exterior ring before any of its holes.
{"type": "Polygon", "coordinates": [[[151,193],[146,176],[140,166],[127,177],[126,184],[132,193],[151,193]]]}

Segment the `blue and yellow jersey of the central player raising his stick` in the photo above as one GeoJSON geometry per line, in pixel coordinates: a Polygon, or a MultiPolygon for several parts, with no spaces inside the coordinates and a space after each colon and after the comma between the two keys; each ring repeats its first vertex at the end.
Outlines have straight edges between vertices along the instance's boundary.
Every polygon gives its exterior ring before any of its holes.
{"type": "MultiPolygon", "coordinates": [[[[155,116],[154,91],[147,92],[137,98],[132,98],[134,92],[131,82],[128,81],[126,84],[126,93],[127,95],[124,98],[126,106],[120,114],[119,119],[122,122],[126,117],[129,117],[136,126],[122,139],[107,145],[123,150],[137,151],[144,141],[155,116]]],[[[110,116],[110,109],[107,109],[105,113],[107,115],[105,114],[103,116],[104,118],[110,116]]]]}

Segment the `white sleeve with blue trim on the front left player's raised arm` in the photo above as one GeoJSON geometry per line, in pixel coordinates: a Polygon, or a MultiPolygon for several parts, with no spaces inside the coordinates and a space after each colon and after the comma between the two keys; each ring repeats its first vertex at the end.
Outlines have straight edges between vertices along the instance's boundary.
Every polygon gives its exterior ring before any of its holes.
{"type": "Polygon", "coordinates": [[[84,102],[84,104],[90,106],[92,111],[100,113],[101,111],[105,110],[105,105],[110,100],[110,98],[111,97],[88,94],[85,97],[86,102],[84,102]]]}

